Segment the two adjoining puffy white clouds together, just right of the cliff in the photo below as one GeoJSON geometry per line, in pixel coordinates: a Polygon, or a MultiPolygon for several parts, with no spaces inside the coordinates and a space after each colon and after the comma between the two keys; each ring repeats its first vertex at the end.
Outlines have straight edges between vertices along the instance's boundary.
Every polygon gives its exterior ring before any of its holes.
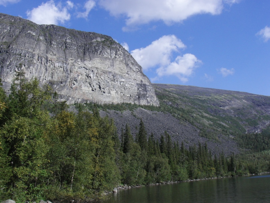
{"type": "Polygon", "coordinates": [[[143,67],[143,70],[157,68],[157,76],[152,81],[165,75],[175,75],[182,82],[187,82],[194,69],[201,63],[193,54],[179,55],[174,60],[173,53],[186,46],[175,35],[164,35],[145,48],[131,51],[131,55],[143,67]]]}

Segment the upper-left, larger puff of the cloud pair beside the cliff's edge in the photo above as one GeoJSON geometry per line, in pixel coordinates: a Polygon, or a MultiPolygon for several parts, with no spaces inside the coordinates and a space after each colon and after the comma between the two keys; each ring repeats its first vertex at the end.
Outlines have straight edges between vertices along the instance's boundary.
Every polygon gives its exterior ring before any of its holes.
{"type": "Polygon", "coordinates": [[[131,51],[131,55],[143,67],[143,70],[147,70],[156,65],[166,66],[170,64],[173,51],[185,47],[183,42],[175,35],[164,35],[145,48],[131,51]]]}

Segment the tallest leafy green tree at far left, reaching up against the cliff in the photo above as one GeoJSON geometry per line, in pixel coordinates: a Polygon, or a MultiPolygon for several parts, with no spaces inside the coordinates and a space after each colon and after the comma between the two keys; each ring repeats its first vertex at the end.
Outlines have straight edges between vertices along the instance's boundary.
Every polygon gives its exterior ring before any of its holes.
{"type": "Polygon", "coordinates": [[[28,82],[18,72],[7,98],[0,136],[8,149],[12,175],[5,191],[19,201],[40,195],[44,186],[40,180],[47,176],[44,138],[50,119],[40,107],[49,95],[49,87],[40,88],[36,79],[28,82]]]}

